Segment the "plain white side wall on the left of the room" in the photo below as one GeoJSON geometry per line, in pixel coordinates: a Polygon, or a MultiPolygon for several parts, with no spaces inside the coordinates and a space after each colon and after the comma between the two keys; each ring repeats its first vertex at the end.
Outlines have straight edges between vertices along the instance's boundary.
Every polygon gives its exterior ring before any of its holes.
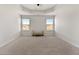
{"type": "Polygon", "coordinates": [[[18,21],[16,5],[0,5],[0,46],[18,35],[18,21]]]}

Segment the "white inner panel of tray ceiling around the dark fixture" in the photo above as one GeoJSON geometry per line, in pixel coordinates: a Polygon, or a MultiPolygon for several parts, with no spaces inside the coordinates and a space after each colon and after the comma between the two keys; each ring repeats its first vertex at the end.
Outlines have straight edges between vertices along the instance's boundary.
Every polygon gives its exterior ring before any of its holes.
{"type": "Polygon", "coordinates": [[[48,10],[50,8],[53,8],[55,4],[23,4],[23,6],[29,10],[48,10]]]}

